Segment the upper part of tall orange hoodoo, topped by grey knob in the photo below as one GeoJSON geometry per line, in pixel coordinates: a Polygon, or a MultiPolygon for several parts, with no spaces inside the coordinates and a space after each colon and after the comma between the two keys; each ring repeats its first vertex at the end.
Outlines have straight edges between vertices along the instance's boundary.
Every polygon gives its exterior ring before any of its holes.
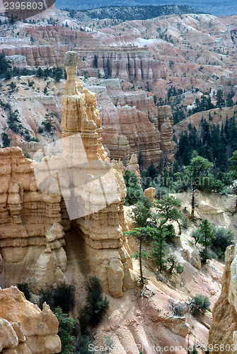
{"type": "Polygon", "coordinates": [[[96,93],[84,89],[82,82],[76,80],[79,55],[76,52],[67,52],[65,67],[67,81],[62,96],[63,136],[68,137],[80,133],[88,159],[108,160],[101,138],[101,120],[96,108],[96,93]]]}

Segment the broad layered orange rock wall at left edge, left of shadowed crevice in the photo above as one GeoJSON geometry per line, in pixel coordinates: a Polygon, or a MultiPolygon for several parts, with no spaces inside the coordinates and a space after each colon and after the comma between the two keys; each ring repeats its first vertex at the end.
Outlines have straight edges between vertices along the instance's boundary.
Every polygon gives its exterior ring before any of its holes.
{"type": "MultiPolygon", "coordinates": [[[[1,282],[7,286],[31,281],[39,259],[46,254],[51,257],[50,269],[47,269],[51,282],[63,280],[64,266],[60,266],[61,258],[66,256],[62,249],[64,233],[57,236],[57,245],[48,246],[47,242],[47,235],[54,233],[52,227],[57,232],[60,227],[60,196],[37,190],[32,161],[25,158],[19,147],[0,149],[0,179],[1,282]]],[[[35,285],[36,290],[49,280],[45,278],[45,271],[41,272],[42,279],[35,285]]]]}

